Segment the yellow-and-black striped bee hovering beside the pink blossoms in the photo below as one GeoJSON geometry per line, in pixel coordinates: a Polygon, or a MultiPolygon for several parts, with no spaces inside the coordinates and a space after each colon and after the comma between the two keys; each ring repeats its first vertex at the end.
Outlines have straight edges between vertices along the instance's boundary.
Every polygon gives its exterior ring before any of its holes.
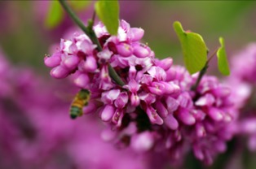
{"type": "Polygon", "coordinates": [[[69,110],[71,119],[76,119],[78,116],[82,116],[82,107],[86,106],[89,100],[90,91],[87,89],[81,89],[71,103],[69,110]]]}

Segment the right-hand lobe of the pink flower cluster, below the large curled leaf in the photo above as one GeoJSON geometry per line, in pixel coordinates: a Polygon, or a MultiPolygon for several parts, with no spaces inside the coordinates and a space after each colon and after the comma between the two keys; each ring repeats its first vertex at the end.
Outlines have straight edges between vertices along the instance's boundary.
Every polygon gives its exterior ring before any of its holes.
{"type": "Polygon", "coordinates": [[[235,134],[236,110],[231,90],[214,76],[204,76],[186,107],[190,108],[195,124],[181,129],[185,141],[192,145],[196,158],[213,163],[213,158],[226,150],[226,142],[235,134]]]}

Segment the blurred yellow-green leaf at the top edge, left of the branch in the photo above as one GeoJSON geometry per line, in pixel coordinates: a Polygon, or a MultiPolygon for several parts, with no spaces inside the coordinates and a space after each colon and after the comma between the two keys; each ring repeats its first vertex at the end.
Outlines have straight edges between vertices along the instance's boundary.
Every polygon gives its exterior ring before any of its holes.
{"type": "Polygon", "coordinates": [[[46,28],[55,28],[64,19],[64,11],[58,1],[51,1],[48,13],[46,15],[46,28]]]}

